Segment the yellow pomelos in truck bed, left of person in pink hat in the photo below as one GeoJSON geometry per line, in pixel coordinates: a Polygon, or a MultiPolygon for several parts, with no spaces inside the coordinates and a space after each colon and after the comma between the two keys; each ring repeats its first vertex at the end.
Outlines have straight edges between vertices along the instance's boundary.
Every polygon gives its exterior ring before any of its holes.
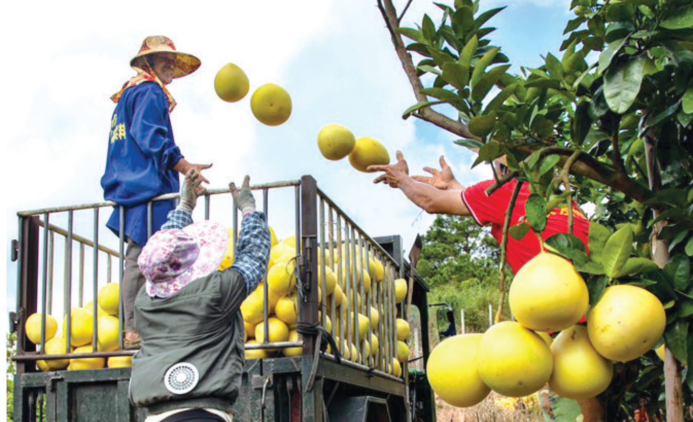
{"type": "MultiPolygon", "coordinates": [[[[46,315],[45,354],[91,353],[94,351],[114,351],[120,346],[119,335],[119,296],[120,284],[107,283],[98,291],[96,304],[96,344],[94,340],[94,302],[70,312],[70,344],[67,346],[67,315],[62,321],[62,331],[58,333],[58,322],[52,315],[46,315]]],[[[26,319],[26,337],[34,344],[41,344],[42,314],[34,313],[26,319]]],[[[130,356],[109,358],[48,359],[37,360],[41,371],[66,369],[100,369],[103,367],[130,367],[130,356]]]]}

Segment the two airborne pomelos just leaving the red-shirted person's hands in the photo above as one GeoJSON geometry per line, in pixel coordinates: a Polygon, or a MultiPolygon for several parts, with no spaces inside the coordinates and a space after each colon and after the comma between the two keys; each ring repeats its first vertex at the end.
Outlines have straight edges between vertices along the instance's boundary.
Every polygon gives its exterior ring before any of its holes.
{"type": "Polygon", "coordinates": [[[351,130],[332,123],[317,134],[317,148],[323,157],[337,161],[349,156],[349,163],[361,172],[368,166],[389,164],[389,154],[382,143],[371,137],[356,138],[351,130]]]}

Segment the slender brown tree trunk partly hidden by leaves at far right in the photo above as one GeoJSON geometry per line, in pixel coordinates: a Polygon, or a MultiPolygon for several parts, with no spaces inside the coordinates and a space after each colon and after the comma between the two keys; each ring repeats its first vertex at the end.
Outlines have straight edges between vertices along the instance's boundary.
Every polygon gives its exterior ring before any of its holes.
{"type": "MultiPolygon", "coordinates": [[[[658,174],[656,170],[656,157],[654,156],[655,146],[653,139],[647,135],[645,137],[645,161],[647,162],[647,177],[649,188],[656,192],[658,186],[658,174]]],[[[654,218],[660,214],[660,210],[652,209],[654,218]]],[[[652,261],[660,268],[664,268],[669,262],[669,245],[665,240],[659,238],[662,229],[667,222],[660,221],[652,228],[651,245],[652,261]]],[[[681,384],[681,368],[669,349],[666,349],[664,359],[664,385],[667,405],[667,422],[683,422],[683,385],[681,384]]]]}

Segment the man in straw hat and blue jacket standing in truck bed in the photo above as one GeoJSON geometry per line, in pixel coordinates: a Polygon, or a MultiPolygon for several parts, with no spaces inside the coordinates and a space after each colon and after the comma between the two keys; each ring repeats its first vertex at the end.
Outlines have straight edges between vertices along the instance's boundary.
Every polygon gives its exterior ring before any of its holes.
{"type": "MultiPolygon", "coordinates": [[[[125,82],[123,89],[111,99],[116,109],[111,118],[106,168],[101,177],[105,200],[116,202],[125,209],[125,254],[123,274],[123,308],[125,347],[139,346],[139,334],[134,330],[133,305],[144,278],[137,268],[137,257],[148,236],[147,202],[153,197],[179,190],[178,174],[193,170],[203,182],[202,170],[211,164],[190,164],[184,159],[173,139],[170,112],[175,107],[166,85],[174,78],[193,73],[200,60],[193,55],[176,51],[167,37],[146,37],[139,53],[130,60],[137,76],[125,82]]],[[[204,191],[200,186],[198,189],[204,191]]],[[[166,221],[175,201],[152,204],[154,233],[166,221]]],[[[106,226],[116,236],[121,229],[119,207],[115,207],[106,226]]]]}

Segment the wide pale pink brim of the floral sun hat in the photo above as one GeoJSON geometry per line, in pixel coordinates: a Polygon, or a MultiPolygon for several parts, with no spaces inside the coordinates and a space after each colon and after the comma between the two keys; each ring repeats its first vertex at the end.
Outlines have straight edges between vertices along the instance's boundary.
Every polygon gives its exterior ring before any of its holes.
{"type": "Polygon", "coordinates": [[[218,222],[204,220],[186,226],[183,231],[195,239],[200,247],[198,258],[187,271],[190,274],[190,280],[199,279],[216,271],[224,259],[229,242],[226,227],[218,222]]]}

